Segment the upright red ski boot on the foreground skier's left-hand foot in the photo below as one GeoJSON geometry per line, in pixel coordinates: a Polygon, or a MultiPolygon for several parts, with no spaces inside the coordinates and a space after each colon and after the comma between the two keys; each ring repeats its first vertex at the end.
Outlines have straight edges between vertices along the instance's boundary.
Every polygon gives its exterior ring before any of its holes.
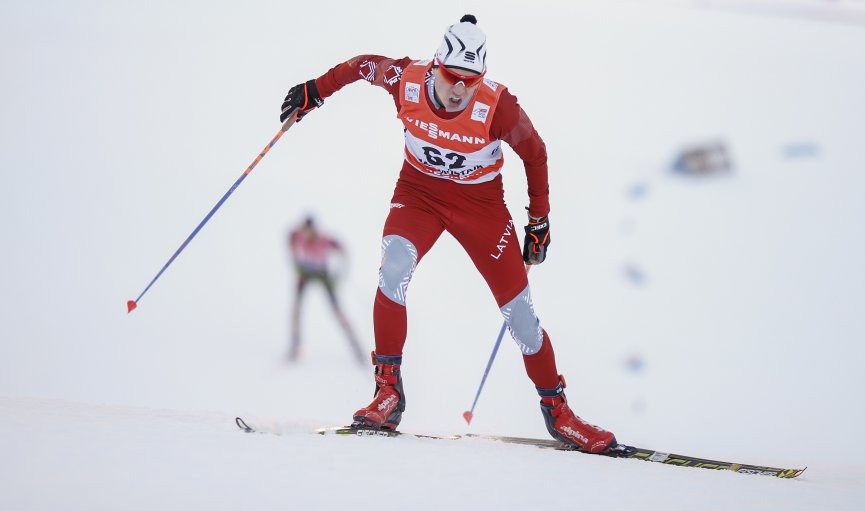
{"type": "Polygon", "coordinates": [[[405,393],[399,366],[402,356],[372,352],[375,365],[375,393],[372,403],[354,412],[353,429],[396,429],[405,411],[405,393]]]}

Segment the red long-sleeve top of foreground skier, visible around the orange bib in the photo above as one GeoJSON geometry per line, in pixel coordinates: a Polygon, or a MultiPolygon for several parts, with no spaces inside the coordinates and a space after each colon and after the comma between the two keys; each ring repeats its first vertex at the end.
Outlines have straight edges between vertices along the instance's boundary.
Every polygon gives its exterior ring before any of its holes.
{"type": "MultiPolygon", "coordinates": [[[[359,55],[337,64],[327,73],[316,78],[315,85],[322,99],[331,96],[346,85],[360,79],[382,87],[393,98],[397,111],[401,107],[399,80],[402,70],[412,62],[409,57],[392,59],[381,55],[359,55]]],[[[429,101],[429,98],[427,98],[429,101]]],[[[450,119],[460,112],[446,112],[430,103],[437,115],[450,119]]],[[[523,160],[526,169],[529,194],[529,214],[545,216],[550,211],[550,187],[547,171],[547,149],[532,121],[520,107],[516,96],[507,88],[502,91],[490,125],[490,136],[504,140],[523,160]]],[[[408,165],[408,163],[404,163],[408,165]]],[[[471,186],[471,185],[468,185],[471,186]]]]}

